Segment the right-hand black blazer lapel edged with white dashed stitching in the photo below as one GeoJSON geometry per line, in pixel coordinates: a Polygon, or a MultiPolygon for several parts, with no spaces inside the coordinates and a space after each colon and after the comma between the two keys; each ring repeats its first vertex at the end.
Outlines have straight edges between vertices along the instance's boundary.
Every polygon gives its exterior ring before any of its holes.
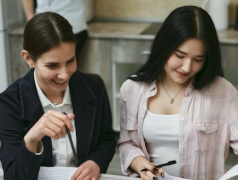
{"type": "Polygon", "coordinates": [[[79,163],[83,163],[90,151],[95,114],[96,97],[88,84],[77,72],[71,77],[70,94],[75,114],[75,126],[77,136],[77,155],[79,163]]]}

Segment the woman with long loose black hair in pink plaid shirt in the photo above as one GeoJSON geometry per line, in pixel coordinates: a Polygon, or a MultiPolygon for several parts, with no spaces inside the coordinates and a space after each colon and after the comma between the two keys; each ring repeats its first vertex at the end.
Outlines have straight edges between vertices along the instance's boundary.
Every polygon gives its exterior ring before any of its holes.
{"type": "Polygon", "coordinates": [[[214,180],[229,148],[238,154],[238,93],[223,78],[217,32],[202,8],[180,7],[165,19],[148,61],[120,93],[124,174],[214,180]]]}

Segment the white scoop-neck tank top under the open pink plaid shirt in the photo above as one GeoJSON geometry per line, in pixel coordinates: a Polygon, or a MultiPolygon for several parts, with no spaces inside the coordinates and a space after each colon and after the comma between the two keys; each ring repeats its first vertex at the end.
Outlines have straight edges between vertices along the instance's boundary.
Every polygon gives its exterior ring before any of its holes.
{"type": "Polygon", "coordinates": [[[147,110],[143,135],[150,161],[156,164],[176,160],[176,164],[163,169],[172,176],[179,176],[179,114],[160,115],[147,110]]]}

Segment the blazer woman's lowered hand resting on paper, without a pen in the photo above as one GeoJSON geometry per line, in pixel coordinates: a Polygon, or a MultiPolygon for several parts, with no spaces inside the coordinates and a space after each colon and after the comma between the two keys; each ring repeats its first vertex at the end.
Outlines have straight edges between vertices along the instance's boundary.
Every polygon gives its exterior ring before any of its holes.
{"type": "Polygon", "coordinates": [[[81,164],[70,180],[97,180],[100,174],[99,166],[91,160],[81,164]]]}

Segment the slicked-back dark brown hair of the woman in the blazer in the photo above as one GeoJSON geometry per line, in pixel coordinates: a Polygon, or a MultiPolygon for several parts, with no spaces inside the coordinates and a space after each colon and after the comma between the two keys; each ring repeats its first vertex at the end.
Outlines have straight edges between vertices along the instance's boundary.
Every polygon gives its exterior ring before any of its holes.
{"type": "Polygon", "coordinates": [[[29,52],[33,61],[61,42],[75,43],[72,26],[61,15],[40,13],[26,24],[23,48],[29,52]]]}

